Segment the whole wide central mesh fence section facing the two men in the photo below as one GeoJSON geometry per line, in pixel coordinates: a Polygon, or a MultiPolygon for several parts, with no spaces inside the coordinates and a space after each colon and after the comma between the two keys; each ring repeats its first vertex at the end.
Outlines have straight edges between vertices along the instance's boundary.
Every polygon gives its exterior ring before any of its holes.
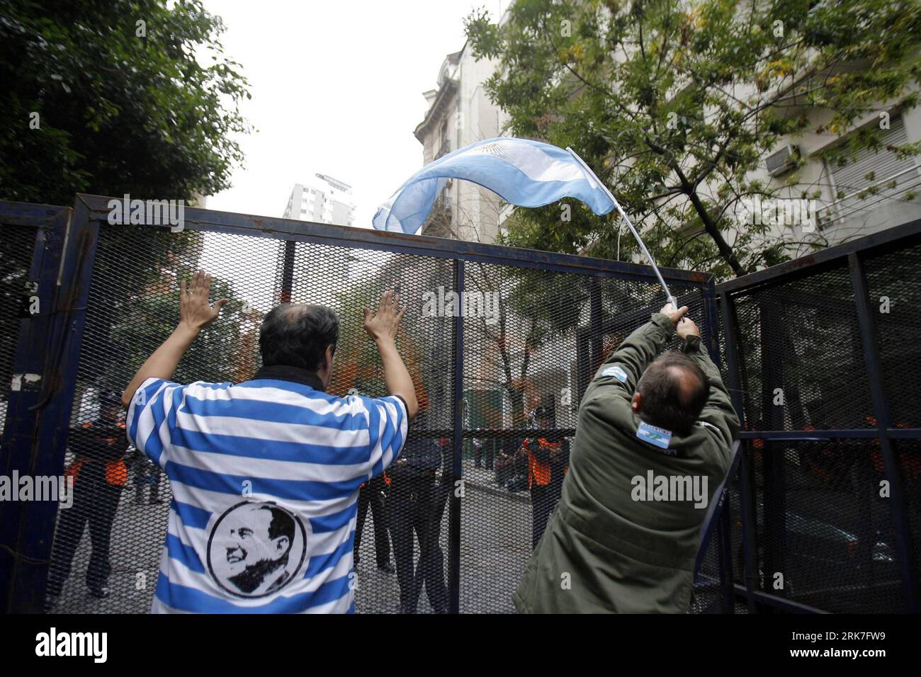
{"type": "MultiPolygon", "coordinates": [[[[340,317],[327,391],[384,395],[362,309],[374,308],[383,290],[400,295],[407,313],[397,347],[420,412],[400,460],[356,491],[356,611],[443,613],[454,600],[461,612],[511,611],[511,592],[559,499],[579,393],[659,309],[654,278],[637,269],[621,278],[590,266],[495,263],[504,261],[499,248],[470,258],[460,248],[448,256],[388,251],[356,231],[310,241],[267,236],[261,226],[245,234],[252,226],[243,216],[245,228],[211,230],[208,216],[199,217],[194,229],[170,232],[95,216],[64,454],[73,505],[57,512],[46,609],[150,608],[176,499],[159,466],[129,447],[120,398],[175,328],[179,282],[204,269],[212,300],[228,302],[183,356],[174,375],[181,383],[251,379],[266,313],[280,302],[313,303],[340,317]],[[553,449],[547,483],[529,473],[529,446],[537,445],[553,449]]],[[[707,332],[703,284],[672,281],[707,332]]]]}

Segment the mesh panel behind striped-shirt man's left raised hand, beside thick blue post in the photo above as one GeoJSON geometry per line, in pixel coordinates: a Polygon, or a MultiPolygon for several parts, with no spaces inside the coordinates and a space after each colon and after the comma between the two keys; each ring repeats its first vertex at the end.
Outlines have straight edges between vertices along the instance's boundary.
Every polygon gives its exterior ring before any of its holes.
{"type": "Polygon", "coordinates": [[[58,511],[50,610],[149,610],[171,494],[159,467],[128,446],[122,389],[176,327],[178,281],[198,268],[214,275],[213,298],[230,302],[174,378],[251,378],[259,322],[278,296],[282,247],[277,240],[192,230],[100,228],[65,457],[73,504],[58,511]]]}

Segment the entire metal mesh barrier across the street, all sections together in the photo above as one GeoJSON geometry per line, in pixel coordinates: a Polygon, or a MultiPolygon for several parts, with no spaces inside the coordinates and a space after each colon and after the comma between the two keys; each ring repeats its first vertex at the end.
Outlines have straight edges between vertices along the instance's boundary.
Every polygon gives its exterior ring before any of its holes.
{"type": "MultiPolygon", "coordinates": [[[[11,610],[39,609],[49,592],[57,612],[149,609],[171,494],[159,468],[127,447],[117,399],[172,331],[179,280],[199,268],[214,276],[213,298],[229,302],[183,358],[181,382],[250,379],[265,313],[309,302],[341,319],[329,390],[383,395],[361,309],[388,288],[406,301],[398,347],[421,406],[404,452],[414,462],[359,490],[359,613],[512,611],[559,499],[581,394],[661,305],[651,270],[632,263],[191,208],[176,232],[112,226],[107,199],[85,195],[74,210],[56,208],[56,221],[28,216],[32,207],[0,210],[9,348],[0,369],[5,383],[42,377],[0,393],[17,407],[3,459],[7,471],[65,473],[75,488],[67,509],[0,505],[11,610]],[[36,295],[47,305],[30,314],[36,295]],[[529,444],[554,449],[540,492],[529,487],[529,444]]],[[[865,361],[853,263],[717,287],[718,310],[709,275],[665,271],[711,353],[722,353],[746,424],[707,527],[693,613],[756,610],[766,598],[827,611],[910,608],[913,565],[901,556],[918,543],[918,393],[904,373],[919,358],[908,340],[919,258],[915,244],[861,259],[863,293],[892,301],[892,313],[874,316],[879,370],[865,361]],[[884,424],[876,375],[891,407],[884,424]],[[893,460],[896,503],[878,491],[893,460]]]]}

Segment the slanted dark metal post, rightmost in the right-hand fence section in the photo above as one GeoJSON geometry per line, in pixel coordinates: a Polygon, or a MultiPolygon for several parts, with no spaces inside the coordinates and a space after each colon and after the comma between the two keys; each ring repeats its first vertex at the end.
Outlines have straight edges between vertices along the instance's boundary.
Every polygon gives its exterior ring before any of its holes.
{"type": "Polygon", "coordinates": [[[909,613],[917,613],[919,607],[917,563],[915,562],[911,531],[908,528],[908,516],[905,511],[899,461],[892,451],[892,439],[887,430],[892,426],[892,416],[887,393],[882,382],[880,344],[876,323],[873,321],[873,313],[870,309],[867,275],[857,252],[851,252],[847,255],[847,264],[851,272],[854,298],[857,301],[857,321],[860,323],[860,334],[863,337],[864,359],[867,363],[867,373],[869,374],[869,389],[873,398],[873,414],[876,417],[876,429],[880,440],[883,472],[890,487],[895,549],[899,554],[899,568],[902,571],[905,600],[907,601],[909,613]]]}

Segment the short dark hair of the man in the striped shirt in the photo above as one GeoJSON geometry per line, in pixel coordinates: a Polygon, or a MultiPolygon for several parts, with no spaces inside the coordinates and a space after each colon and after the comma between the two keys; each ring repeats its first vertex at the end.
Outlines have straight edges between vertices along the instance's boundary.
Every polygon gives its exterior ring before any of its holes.
{"type": "Polygon", "coordinates": [[[335,352],[339,316],[326,306],[283,303],[262,320],[259,352],[262,365],[299,367],[316,371],[325,361],[326,346],[335,352]]]}

